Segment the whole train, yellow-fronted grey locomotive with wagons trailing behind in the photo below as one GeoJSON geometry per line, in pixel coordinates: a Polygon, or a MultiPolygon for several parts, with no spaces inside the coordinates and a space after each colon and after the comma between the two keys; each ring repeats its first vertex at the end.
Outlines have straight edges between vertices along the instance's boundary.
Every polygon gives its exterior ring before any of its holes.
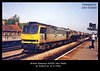
{"type": "Polygon", "coordinates": [[[23,26],[22,30],[21,47],[26,53],[45,51],[54,46],[76,41],[80,36],[88,37],[87,33],[39,22],[29,22],[23,26]]]}

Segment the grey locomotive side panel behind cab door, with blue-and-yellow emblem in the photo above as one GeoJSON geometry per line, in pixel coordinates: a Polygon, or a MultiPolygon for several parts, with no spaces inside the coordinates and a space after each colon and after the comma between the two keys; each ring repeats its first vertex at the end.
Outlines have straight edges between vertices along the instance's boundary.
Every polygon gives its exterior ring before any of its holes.
{"type": "Polygon", "coordinates": [[[66,31],[59,30],[56,27],[52,28],[47,26],[46,42],[55,42],[60,40],[66,40],[66,31]]]}

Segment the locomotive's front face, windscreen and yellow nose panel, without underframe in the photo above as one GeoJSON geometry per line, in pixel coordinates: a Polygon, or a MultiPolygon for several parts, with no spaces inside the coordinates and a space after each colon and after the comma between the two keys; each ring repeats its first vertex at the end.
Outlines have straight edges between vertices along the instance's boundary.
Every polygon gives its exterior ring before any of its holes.
{"type": "Polygon", "coordinates": [[[25,25],[21,40],[21,43],[39,43],[39,25],[25,25]]]}

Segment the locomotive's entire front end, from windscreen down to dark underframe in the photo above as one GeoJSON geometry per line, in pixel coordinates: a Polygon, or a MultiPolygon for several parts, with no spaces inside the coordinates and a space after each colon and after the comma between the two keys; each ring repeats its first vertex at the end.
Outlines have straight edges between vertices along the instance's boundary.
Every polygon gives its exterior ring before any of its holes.
{"type": "Polygon", "coordinates": [[[25,24],[23,26],[21,34],[21,48],[24,49],[23,52],[33,53],[36,50],[35,48],[39,46],[41,27],[45,26],[39,24],[25,24]]]}

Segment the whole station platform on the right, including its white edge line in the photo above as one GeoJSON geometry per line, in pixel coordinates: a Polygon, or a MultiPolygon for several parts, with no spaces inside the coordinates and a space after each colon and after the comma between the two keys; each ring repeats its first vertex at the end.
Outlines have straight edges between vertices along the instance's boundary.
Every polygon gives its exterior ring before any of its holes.
{"type": "Polygon", "coordinates": [[[75,47],[71,52],[66,52],[57,60],[98,60],[98,39],[94,42],[94,49],[90,49],[91,41],[86,41],[75,47]]]}

